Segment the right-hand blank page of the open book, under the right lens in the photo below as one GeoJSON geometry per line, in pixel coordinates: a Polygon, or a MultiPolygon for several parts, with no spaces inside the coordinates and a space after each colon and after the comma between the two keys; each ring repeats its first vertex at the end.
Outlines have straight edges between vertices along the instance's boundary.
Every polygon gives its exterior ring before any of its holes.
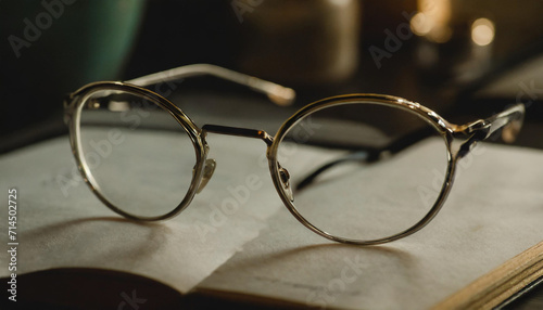
{"type": "MultiPolygon", "coordinates": [[[[427,160],[419,151],[397,156],[427,160]]],[[[427,309],[542,241],[541,163],[541,151],[481,144],[437,218],[379,246],[328,242],[283,208],[199,287],[317,307],[427,309]]]]}

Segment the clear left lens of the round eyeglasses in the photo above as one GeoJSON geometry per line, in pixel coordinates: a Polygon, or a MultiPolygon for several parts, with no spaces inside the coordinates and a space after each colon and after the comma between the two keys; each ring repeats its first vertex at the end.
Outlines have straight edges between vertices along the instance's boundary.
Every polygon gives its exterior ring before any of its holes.
{"type": "Polygon", "coordinates": [[[78,157],[102,198],[138,218],[179,206],[197,153],[168,111],[138,93],[99,90],[83,99],[75,116],[78,157]]]}

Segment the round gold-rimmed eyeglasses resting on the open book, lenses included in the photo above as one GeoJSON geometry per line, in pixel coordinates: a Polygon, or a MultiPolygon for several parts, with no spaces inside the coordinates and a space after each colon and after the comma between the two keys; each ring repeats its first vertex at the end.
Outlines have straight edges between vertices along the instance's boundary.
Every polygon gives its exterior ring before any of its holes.
{"type": "Polygon", "coordinates": [[[386,243],[425,227],[450,193],[458,160],[490,137],[512,142],[525,114],[517,104],[454,125],[416,102],[348,94],[304,106],[272,137],[247,128],[200,128],[161,95],[172,81],[199,75],[248,86],[279,105],[294,99],[289,88],[203,64],[94,82],[67,96],[76,163],[113,211],[141,221],[179,214],[213,176],[206,134],[239,135],[266,143],[273,183],[302,224],[341,243],[386,243]]]}

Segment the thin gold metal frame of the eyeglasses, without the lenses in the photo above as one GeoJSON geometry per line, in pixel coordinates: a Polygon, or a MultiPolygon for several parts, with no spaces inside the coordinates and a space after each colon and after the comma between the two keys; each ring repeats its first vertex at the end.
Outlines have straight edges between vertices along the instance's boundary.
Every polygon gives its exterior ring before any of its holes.
{"type": "MultiPolygon", "coordinates": [[[[179,107],[174,105],[171,101],[153,92],[146,87],[153,85],[159,85],[162,82],[167,82],[172,80],[177,80],[181,78],[189,78],[200,75],[211,75],[218,78],[223,78],[229,81],[233,81],[240,85],[248,86],[256,91],[265,93],[268,98],[278,105],[289,105],[294,99],[294,91],[282,86],[265,81],[255,77],[239,74],[226,68],[217,67],[207,64],[195,64],[178,67],[175,69],[136,78],[129,81],[101,81],[93,82],[84,86],[79,90],[67,95],[64,101],[64,120],[70,129],[70,141],[72,145],[72,151],[75,156],[79,171],[81,172],[86,183],[90,186],[91,191],[98,196],[98,198],[111,208],[113,211],[132,220],[139,221],[156,221],[164,220],[178,215],[184,210],[192,201],[194,195],[203,190],[207,181],[213,175],[215,168],[214,159],[207,159],[209,145],[205,141],[206,134],[209,132],[228,134],[228,135],[239,135],[247,138],[256,138],[263,140],[267,145],[266,156],[268,159],[269,171],[274,185],[285,203],[289,211],[306,228],[313,232],[329,238],[331,241],[345,243],[345,244],[356,244],[356,245],[374,245],[391,242],[405,237],[409,234],[424,228],[428,224],[433,217],[441,209],[446,196],[449,195],[454,175],[456,170],[456,163],[464,157],[473,145],[488,139],[495,132],[501,132],[502,138],[505,142],[513,142],[518,131],[521,128],[525,106],[522,104],[515,104],[504,112],[491,116],[487,119],[478,119],[476,121],[466,125],[454,125],[446,121],[444,118],[439,116],[435,112],[412,101],[401,99],[392,95],[382,94],[346,94],[332,96],[324,99],[314,103],[311,103],[300,111],[298,111],[293,116],[291,116],[277,131],[275,138],[269,135],[263,130],[248,129],[248,128],[236,128],[219,125],[204,125],[199,128],[179,107]],[[86,102],[86,98],[99,90],[118,90],[126,91],[128,93],[140,95],[144,99],[151,100],[152,102],[160,105],[163,109],[168,112],[185,129],[185,131],[190,137],[195,151],[197,165],[194,166],[192,181],[190,188],[185,196],[185,198],[175,207],[172,211],[156,217],[139,217],[124,211],[122,208],[110,203],[100,192],[100,186],[94,181],[89,167],[83,158],[80,150],[80,139],[79,139],[79,114],[80,105],[86,102]],[[447,150],[447,169],[445,173],[445,180],[441,188],[441,192],[431,207],[430,211],[413,227],[394,234],[392,236],[377,238],[377,240],[351,240],[331,235],[308,222],[296,209],[293,203],[290,177],[289,172],[280,166],[277,158],[277,152],[280,142],[286,137],[289,129],[296,125],[298,121],[303,119],[305,116],[320,111],[323,108],[331,107],[334,105],[343,105],[351,103],[371,103],[380,104],[384,106],[401,108],[409,113],[414,113],[433,127],[437,132],[443,138],[446,150],[447,150]]],[[[387,150],[381,150],[387,151],[387,150]]],[[[333,164],[331,164],[333,165],[333,164]]],[[[326,165],[325,165],[326,166],[326,165]]],[[[323,167],[319,170],[327,169],[323,167]]]]}

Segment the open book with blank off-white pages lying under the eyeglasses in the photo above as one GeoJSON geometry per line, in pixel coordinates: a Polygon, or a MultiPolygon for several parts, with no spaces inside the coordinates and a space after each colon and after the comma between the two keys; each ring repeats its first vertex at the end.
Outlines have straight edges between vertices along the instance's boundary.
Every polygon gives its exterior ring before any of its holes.
{"type": "MultiPolygon", "coordinates": [[[[181,294],[339,309],[492,307],[543,275],[541,151],[478,146],[428,227],[358,247],[327,241],[288,212],[261,141],[210,135],[209,143],[217,168],[205,191],[176,218],[148,224],[121,218],[92,195],[66,137],[2,156],[2,205],[9,189],[17,192],[16,275],[94,268],[146,276],[181,294]],[[225,201],[235,207],[225,208],[225,201]]],[[[424,160],[417,147],[408,152],[424,160]]],[[[8,225],[2,216],[4,241],[8,225]]],[[[0,251],[3,279],[11,276],[10,259],[0,251]]]]}

